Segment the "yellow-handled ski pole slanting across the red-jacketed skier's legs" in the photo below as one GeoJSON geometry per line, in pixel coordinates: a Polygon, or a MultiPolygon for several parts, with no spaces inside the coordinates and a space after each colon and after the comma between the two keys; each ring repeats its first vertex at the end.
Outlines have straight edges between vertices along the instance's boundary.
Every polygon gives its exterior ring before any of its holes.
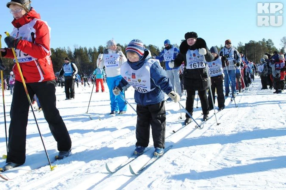
{"type": "MultiPolygon", "coordinates": [[[[9,32],[5,32],[5,34],[6,34],[7,36],[10,36],[9,32]]],[[[27,90],[27,86],[26,86],[26,83],[25,83],[25,80],[24,80],[22,71],[21,71],[20,64],[19,64],[19,62],[18,62],[16,53],[15,53],[15,49],[14,49],[13,47],[12,47],[11,49],[12,49],[12,52],[13,52],[13,55],[14,55],[14,58],[15,58],[15,62],[16,62],[18,71],[19,71],[20,76],[21,76],[21,80],[22,80],[22,83],[23,83],[23,86],[24,86],[24,89],[25,89],[25,92],[26,92],[26,95],[27,95],[27,98],[28,98],[30,107],[31,107],[31,109],[32,109],[32,113],[33,113],[34,118],[35,118],[35,122],[36,122],[38,131],[39,131],[39,134],[40,134],[42,143],[43,143],[43,147],[44,147],[45,152],[46,152],[47,159],[48,159],[48,161],[49,161],[50,169],[51,169],[51,171],[52,171],[52,170],[54,170],[54,168],[55,168],[56,166],[52,166],[51,161],[50,161],[50,159],[49,159],[49,155],[48,155],[48,152],[47,152],[47,150],[46,150],[46,147],[45,147],[45,144],[44,144],[44,141],[43,141],[43,137],[42,137],[42,134],[41,134],[41,131],[40,131],[40,128],[39,128],[39,125],[38,125],[38,122],[37,122],[37,119],[36,119],[36,116],[35,116],[35,112],[34,112],[34,109],[33,109],[33,106],[32,106],[32,102],[31,102],[31,99],[30,99],[30,96],[29,96],[29,93],[28,93],[28,90],[27,90]]]]}

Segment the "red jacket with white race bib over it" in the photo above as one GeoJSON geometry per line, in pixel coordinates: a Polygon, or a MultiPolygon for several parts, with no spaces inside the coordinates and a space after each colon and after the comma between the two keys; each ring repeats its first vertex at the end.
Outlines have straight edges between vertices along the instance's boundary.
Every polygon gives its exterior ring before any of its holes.
{"type": "MultiPolygon", "coordinates": [[[[22,38],[15,52],[26,83],[55,79],[50,57],[50,27],[40,19],[40,14],[32,8],[22,18],[14,19],[12,22],[14,29],[10,35],[22,38]]],[[[12,50],[10,48],[6,50],[5,57],[14,58],[12,50]]],[[[16,64],[13,66],[13,72],[15,80],[22,82],[16,64]]]]}

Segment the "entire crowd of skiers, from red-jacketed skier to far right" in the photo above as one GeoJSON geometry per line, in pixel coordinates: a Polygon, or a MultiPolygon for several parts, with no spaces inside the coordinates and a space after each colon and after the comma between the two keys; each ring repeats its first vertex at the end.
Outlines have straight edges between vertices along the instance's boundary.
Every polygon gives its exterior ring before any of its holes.
{"type": "MultiPolygon", "coordinates": [[[[28,112],[34,95],[41,105],[49,128],[57,141],[58,155],[56,159],[69,156],[71,138],[59,111],[56,108],[55,74],[50,58],[50,28],[40,20],[40,15],[31,7],[30,0],[11,0],[7,7],[13,14],[14,29],[11,36],[5,38],[8,48],[0,49],[1,56],[15,58],[21,64],[21,69],[13,67],[15,75],[14,91],[10,109],[9,143],[6,165],[1,171],[9,170],[24,164],[26,127],[28,112]],[[24,52],[24,53],[21,53],[24,52]],[[27,94],[25,94],[27,93],[27,94]],[[30,98],[27,99],[27,96],[30,98]],[[16,109],[15,109],[16,108],[16,109]]],[[[95,76],[96,92],[109,89],[110,114],[124,114],[127,110],[125,90],[132,86],[135,89],[134,99],[137,104],[136,148],[135,156],[139,156],[149,144],[150,127],[154,142],[154,156],[164,153],[166,110],[164,94],[168,99],[179,102],[186,91],[186,119],[184,124],[192,121],[195,93],[200,97],[203,121],[209,118],[209,111],[214,109],[215,92],[217,93],[218,109],[225,108],[225,98],[249,88],[256,72],[259,73],[262,89],[267,85],[281,93],[285,85],[285,57],[283,54],[268,53],[255,65],[248,61],[243,52],[238,52],[230,39],[220,52],[212,46],[207,47],[206,41],[196,32],[184,35],[179,49],[174,47],[169,39],[164,41],[165,48],[161,53],[151,55],[139,39],[133,39],[125,49],[126,55],[112,39],[107,42],[103,52],[97,58],[95,76]],[[164,61],[164,70],[160,61],[164,61]],[[225,86],[225,94],[223,90],[225,86]],[[230,87],[230,88],[229,88],[230,87]],[[237,92],[238,90],[238,92],[237,92]]],[[[74,84],[83,81],[88,83],[88,75],[79,76],[76,64],[66,57],[59,72],[61,83],[64,83],[66,100],[74,99],[74,84]],[[63,82],[64,79],[64,82],[63,82]]],[[[18,63],[17,63],[18,64],[18,63]]],[[[2,67],[1,67],[2,68],[2,67]]],[[[13,79],[13,77],[12,77],[13,79]]],[[[11,81],[11,79],[10,79],[11,81]]],[[[62,84],[63,87],[63,84],[62,84]]],[[[11,93],[13,93],[11,91],[11,93]]]]}

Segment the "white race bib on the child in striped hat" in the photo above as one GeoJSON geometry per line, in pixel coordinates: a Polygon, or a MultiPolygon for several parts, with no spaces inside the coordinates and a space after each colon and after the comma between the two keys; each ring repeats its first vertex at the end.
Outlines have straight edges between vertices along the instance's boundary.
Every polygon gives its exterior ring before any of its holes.
{"type": "Polygon", "coordinates": [[[148,93],[153,91],[151,89],[150,67],[155,63],[156,59],[148,59],[144,65],[138,69],[133,70],[127,62],[121,66],[121,76],[138,92],[148,93]]]}

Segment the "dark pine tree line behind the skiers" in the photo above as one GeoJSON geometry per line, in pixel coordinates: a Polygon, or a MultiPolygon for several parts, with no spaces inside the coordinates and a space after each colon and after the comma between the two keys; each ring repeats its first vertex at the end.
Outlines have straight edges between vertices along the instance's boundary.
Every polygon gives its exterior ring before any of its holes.
{"type": "MultiPolygon", "coordinates": [[[[254,40],[250,40],[248,43],[245,43],[243,45],[242,42],[239,42],[235,48],[238,51],[242,51],[244,55],[248,58],[248,60],[254,61],[254,63],[259,63],[259,60],[262,58],[264,53],[270,53],[272,54],[273,51],[277,51],[280,53],[285,53],[286,48],[286,37],[283,37],[281,39],[281,45],[282,48],[280,51],[274,46],[274,43],[271,39],[262,39],[258,42],[254,40]]],[[[117,44],[118,47],[121,47],[122,52],[125,54],[125,48],[127,47],[127,44],[120,45],[117,44]]],[[[179,45],[174,44],[175,47],[179,47],[179,45]]],[[[212,46],[211,44],[208,44],[209,48],[212,46]]],[[[156,54],[159,55],[160,51],[164,49],[164,47],[161,47],[161,49],[155,45],[145,45],[146,48],[148,48],[152,55],[156,54]]],[[[223,45],[220,45],[220,47],[216,46],[218,50],[221,50],[223,48],[223,45]]],[[[53,63],[54,72],[60,71],[61,67],[64,64],[64,59],[66,57],[69,57],[71,62],[75,63],[77,65],[79,74],[82,74],[83,72],[86,74],[91,74],[91,72],[94,71],[96,68],[96,60],[100,53],[103,52],[104,47],[100,45],[99,47],[93,47],[93,48],[87,48],[87,47],[75,47],[74,51],[72,52],[71,49],[65,48],[65,47],[58,47],[58,48],[51,48],[51,58],[53,63]]],[[[126,54],[125,54],[126,55],[126,54]]],[[[6,70],[4,70],[4,75],[9,75],[9,72],[12,70],[12,67],[14,65],[12,59],[3,58],[3,64],[6,66],[6,70]]],[[[164,67],[164,63],[161,63],[161,65],[164,67]]]]}

